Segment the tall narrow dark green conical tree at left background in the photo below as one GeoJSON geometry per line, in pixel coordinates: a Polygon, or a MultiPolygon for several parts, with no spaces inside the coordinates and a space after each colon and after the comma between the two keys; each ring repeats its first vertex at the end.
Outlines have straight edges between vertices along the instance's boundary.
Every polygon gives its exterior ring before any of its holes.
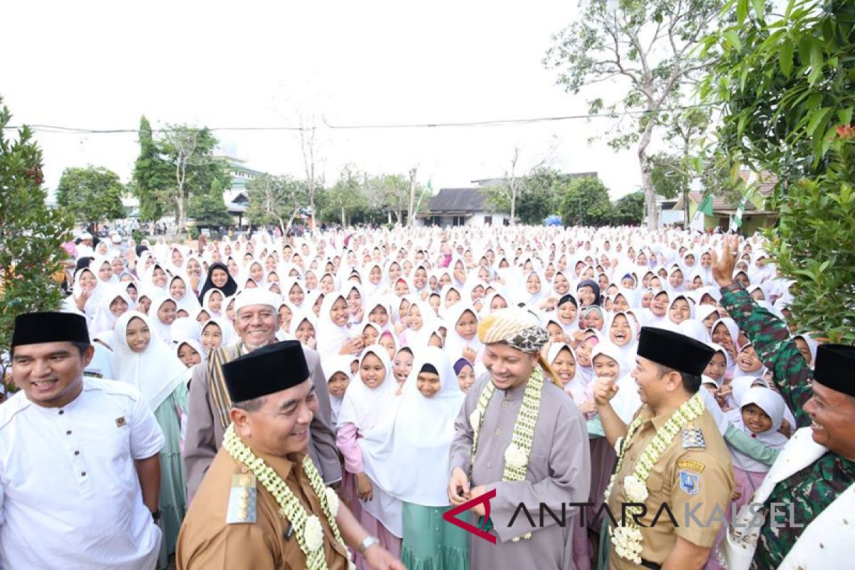
{"type": "Polygon", "coordinates": [[[174,185],[172,168],[162,156],[160,144],[145,116],[139,120],[139,156],[133,165],[133,192],[139,199],[139,218],[160,220],[169,211],[169,190],[174,185]]]}

